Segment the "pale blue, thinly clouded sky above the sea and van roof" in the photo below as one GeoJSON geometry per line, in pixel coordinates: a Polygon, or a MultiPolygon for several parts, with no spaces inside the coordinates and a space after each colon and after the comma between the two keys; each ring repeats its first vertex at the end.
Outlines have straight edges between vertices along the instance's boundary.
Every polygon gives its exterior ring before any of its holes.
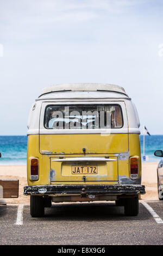
{"type": "Polygon", "coordinates": [[[42,88],[124,87],[163,134],[162,0],[0,0],[0,135],[26,135],[42,88]]]}

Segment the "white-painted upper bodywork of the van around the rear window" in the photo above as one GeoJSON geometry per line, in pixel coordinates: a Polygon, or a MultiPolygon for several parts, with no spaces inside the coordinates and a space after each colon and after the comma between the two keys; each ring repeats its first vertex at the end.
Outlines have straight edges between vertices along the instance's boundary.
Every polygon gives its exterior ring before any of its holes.
{"type": "MultiPolygon", "coordinates": [[[[99,86],[99,85],[97,85],[99,86]]],[[[108,85],[104,84],[104,87],[108,88],[108,85]]],[[[68,88],[70,85],[68,85],[68,88]]],[[[81,86],[79,86],[81,87],[81,86]]],[[[91,86],[92,87],[92,86],[91,86]]],[[[57,87],[56,87],[57,88],[57,87]]],[[[61,88],[64,88],[63,85],[61,88]]],[[[111,86],[112,88],[112,86],[111,86]]],[[[53,88],[46,88],[45,92],[51,91],[53,88]]],[[[60,89],[60,86],[58,87],[60,89]]],[[[65,88],[64,88],[65,89],[65,88]]],[[[70,89],[70,88],[69,88],[70,89]]],[[[73,84],[72,84],[72,89],[73,84]]],[[[96,88],[97,89],[97,88],[96,88]]],[[[116,88],[114,88],[116,89],[116,88]]],[[[112,89],[113,90],[113,89],[112,89]]],[[[122,88],[118,87],[118,90],[122,90],[122,88]]],[[[123,90],[122,90],[123,91],[123,90]]],[[[42,95],[38,99],[36,99],[37,103],[33,103],[32,108],[30,109],[29,118],[28,118],[28,133],[31,134],[78,134],[78,133],[100,133],[102,136],[108,136],[111,133],[137,133],[140,134],[139,126],[140,121],[136,111],[135,105],[131,102],[131,99],[125,95],[125,92],[116,93],[112,92],[79,92],[79,91],[71,91],[71,92],[56,92],[56,93],[48,93],[42,95]],[[121,94],[124,93],[124,94],[121,94]],[[44,115],[45,108],[47,105],[78,105],[78,104],[118,104],[122,108],[123,113],[123,127],[120,129],[45,129],[44,115]],[[35,109],[33,111],[33,106],[36,104],[35,109]]]]}

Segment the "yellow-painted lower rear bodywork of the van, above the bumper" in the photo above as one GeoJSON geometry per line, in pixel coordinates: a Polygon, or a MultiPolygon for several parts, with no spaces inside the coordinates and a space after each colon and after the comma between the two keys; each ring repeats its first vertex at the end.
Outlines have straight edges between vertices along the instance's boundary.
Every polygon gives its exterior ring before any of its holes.
{"type": "Polygon", "coordinates": [[[53,155],[40,154],[39,135],[29,135],[27,153],[28,185],[118,184],[118,175],[130,177],[129,159],[123,161],[96,162],[98,164],[98,175],[85,175],[85,182],[82,179],[83,175],[71,174],[71,164],[74,163],[52,161],[56,157],[79,157],[81,154],[83,155],[83,148],[86,148],[86,156],[110,156],[113,159],[117,159],[116,153],[125,153],[129,148],[130,156],[136,156],[139,160],[139,176],[141,175],[139,135],[111,134],[105,137],[98,134],[40,135],[40,150],[58,153],[53,155]],[[59,154],[61,152],[65,152],[65,154],[59,154]],[[30,180],[30,159],[33,157],[39,159],[39,180],[37,181],[30,180]],[[55,170],[53,182],[49,180],[51,168],[55,170]]]}

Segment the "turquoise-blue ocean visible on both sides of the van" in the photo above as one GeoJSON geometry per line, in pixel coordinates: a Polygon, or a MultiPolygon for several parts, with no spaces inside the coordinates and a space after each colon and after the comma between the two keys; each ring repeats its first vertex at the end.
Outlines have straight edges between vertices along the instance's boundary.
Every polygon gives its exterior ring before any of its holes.
{"type": "MultiPolygon", "coordinates": [[[[27,136],[0,136],[1,165],[21,165],[27,160],[27,136]]],[[[145,136],[145,155],[147,162],[159,162],[160,157],[154,156],[157,149],[163,150],[163,135],[145,136]]],[[[143,136],[140,135],[141,156],[143,153],[143,136]]],[[[143,161],[142,161],[143,162],[143,161]]]]}

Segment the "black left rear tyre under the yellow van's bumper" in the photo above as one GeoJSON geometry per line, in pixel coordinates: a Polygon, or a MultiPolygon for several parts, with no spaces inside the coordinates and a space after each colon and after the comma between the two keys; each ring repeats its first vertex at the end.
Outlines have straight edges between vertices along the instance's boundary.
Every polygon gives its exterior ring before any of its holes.
{"type": "Polygon", "coordinates": [[[44,215],[44,198],[42,196],[30,196],[30,215],[32,217],[44,215]]]}

